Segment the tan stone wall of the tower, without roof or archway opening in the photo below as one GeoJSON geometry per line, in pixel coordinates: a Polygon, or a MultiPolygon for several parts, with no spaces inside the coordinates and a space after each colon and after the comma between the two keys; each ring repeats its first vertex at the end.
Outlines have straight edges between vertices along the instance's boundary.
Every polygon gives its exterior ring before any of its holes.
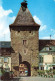
{"type": "MultiPolygon", "coordinates": [[[[16,76],[19,75],[18,67],[20,63],[26,61],[31,66],[31,76],[37,73],[35,68],[38,67],[39,55],[39,35],[36,28],[29,27],[11,28],[11,60],[12,70],[16,76]]],[[[15,76],[14,75],[14,76],[15,76]]]]}

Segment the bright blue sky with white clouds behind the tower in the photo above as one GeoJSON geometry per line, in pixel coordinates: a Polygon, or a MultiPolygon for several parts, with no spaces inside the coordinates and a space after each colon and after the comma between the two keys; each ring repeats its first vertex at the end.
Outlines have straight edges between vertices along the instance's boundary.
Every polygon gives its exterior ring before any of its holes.
{"type": "MultiPolygon", "coordinates": [[[[0,41],[10,41],[9,24],[18,14],[23,0],[0,0],[0,41]]],[[[39,39],[55,39],[55,0],[27,0],[28,9],[40,24],[39,39]]]]}

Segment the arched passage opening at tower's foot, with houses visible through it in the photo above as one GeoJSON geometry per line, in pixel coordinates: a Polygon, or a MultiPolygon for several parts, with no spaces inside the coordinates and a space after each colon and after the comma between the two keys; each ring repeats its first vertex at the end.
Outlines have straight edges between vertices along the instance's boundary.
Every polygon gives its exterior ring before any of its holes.
{"type": "Polygon", "coordinates": [[[19,75],[20,76],[31,76],[31,67],[27,61],[23,61],[19,65],[19,75]]]}

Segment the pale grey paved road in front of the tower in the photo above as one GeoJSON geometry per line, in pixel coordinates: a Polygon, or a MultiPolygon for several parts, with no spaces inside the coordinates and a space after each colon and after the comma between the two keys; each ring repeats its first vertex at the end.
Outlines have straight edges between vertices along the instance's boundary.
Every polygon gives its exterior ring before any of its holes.
{"type": "MultiPolygon", "coordinates": [[[[0,80],[3,81],[3,80],[0,80]]],[[[43,77],[20,77],[13,80],[6,81],[55,81],[55,78],[43,78],[43,77]]]]}

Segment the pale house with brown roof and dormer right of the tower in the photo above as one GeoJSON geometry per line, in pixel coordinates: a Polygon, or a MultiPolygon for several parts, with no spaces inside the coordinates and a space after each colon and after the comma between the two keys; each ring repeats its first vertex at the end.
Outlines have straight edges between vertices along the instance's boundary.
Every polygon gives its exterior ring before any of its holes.
{"type": "Polygon", "coordinates": [[[55,69],[55,40],[40,40],[39,69],[55,69]]]}

